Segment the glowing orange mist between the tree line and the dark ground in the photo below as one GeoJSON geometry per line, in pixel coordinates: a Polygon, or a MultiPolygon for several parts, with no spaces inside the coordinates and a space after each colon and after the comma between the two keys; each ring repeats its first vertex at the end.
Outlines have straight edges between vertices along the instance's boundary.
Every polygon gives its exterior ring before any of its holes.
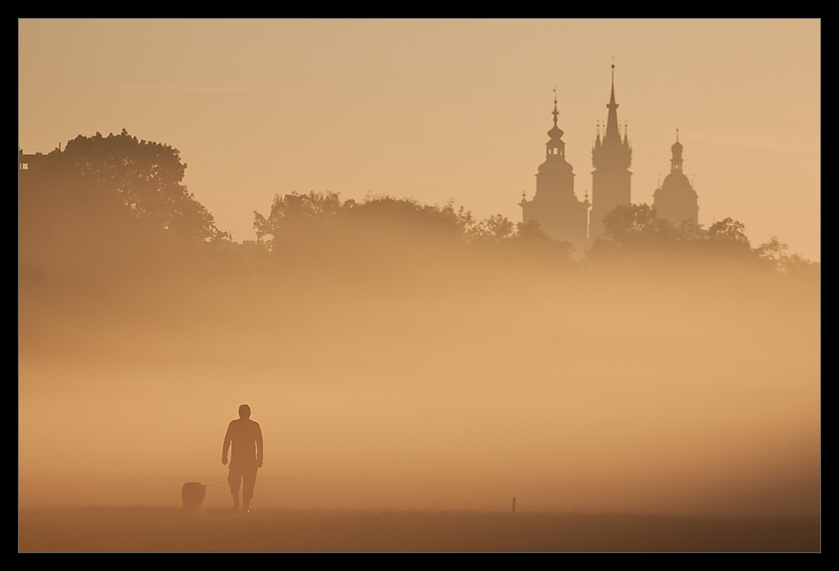
{"type": "Polygon", "coordinates": [[[21,504],[175,503],[246,402],[254,506],[818,513],[818,277],[360,219],[272,251],[21,233],[21,504]]]}

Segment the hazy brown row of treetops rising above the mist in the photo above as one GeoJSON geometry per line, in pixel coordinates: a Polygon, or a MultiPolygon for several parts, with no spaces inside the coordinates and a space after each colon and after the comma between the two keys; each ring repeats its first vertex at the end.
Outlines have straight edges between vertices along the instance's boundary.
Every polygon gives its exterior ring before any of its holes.
{"type": "MultiPolygon", "coordinates": [[[[44,155],[19,177],[21,256],[50,244],[72,244],[95,255],[159,248],[225,248],[230,236],[183,184],[179,151],[132,137],[79,135],[44,155]]],[[[735,219],[708,228],[674,226],[647,204],[631,204],[603,220],[605,235],[574,261],[573,246],[545,236],[538,224],[501,214],[475,219],[453,202],[443,206],[390,195],[342,200],[334,192],[277,194],[268,215],[254,211],[253,228],[265,259],[349,256],[359,252],[452,249],[537,255],[568,267],[644,260],[726,261],[787,275],[817,276],[818,263],[791,254],[773,237],[752,246],[735,219]]],[[[577,252],[579,253],[579,252],[577,252]]]]}

